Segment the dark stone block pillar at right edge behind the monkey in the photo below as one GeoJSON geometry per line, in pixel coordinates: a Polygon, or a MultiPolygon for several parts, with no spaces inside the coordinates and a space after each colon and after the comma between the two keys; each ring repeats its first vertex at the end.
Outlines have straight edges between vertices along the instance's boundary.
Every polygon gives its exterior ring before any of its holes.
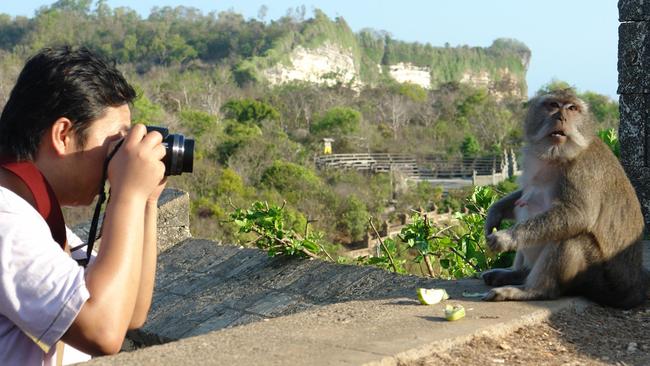
{"type": "Polygon", "coordinates": [[[621,161],[650,223],[650,2],[618,2],[621,161]]]}

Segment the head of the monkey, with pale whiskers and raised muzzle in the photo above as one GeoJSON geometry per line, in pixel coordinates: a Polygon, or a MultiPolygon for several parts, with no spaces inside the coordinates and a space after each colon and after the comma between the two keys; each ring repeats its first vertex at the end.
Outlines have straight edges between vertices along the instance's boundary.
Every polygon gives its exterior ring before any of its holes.
{"type": "Polygon", "coordinates": [[[593,136],[587,105],[566,91],[531,101],[524,130],[526,142],[544,160],[571,160],[593,136]]]}

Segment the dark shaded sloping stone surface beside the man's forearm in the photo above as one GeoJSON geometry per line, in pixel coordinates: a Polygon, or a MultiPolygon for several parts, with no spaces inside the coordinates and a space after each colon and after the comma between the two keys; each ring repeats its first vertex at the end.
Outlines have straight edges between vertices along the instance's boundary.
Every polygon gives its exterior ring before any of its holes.
{"type": "Polygon", "coordinates": [[[416,286],[433,283],[373,267],[270,258],[257,249],[189,239],[159,256],[148,321],[129,338],[158,344],[325,304],[408,296],[416,286]]]}

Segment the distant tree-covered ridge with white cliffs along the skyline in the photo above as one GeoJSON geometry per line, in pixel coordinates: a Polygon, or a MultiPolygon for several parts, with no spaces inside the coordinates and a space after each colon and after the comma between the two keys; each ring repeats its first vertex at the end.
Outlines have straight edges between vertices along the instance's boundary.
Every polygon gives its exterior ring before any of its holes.
{"type": "Polygon", "coordinates": [[[152,65],[227,64],[245,82],[343,83],[359,90],[382,82],[437,89],[449,82],[526,97],[530,50],[498,39],[488,48],[433,47],[393,39],[385,31],[354,33],[342,17],[315,10],[264,23],[232,12],[154,8],[142,19],[129,8],[60,0],[33,18],[0,15],[0,50],[28,55],[53,44],[84,44],[145,71],[152,65]],[[77,29],[84,29],[78,32],[77,29]]]}

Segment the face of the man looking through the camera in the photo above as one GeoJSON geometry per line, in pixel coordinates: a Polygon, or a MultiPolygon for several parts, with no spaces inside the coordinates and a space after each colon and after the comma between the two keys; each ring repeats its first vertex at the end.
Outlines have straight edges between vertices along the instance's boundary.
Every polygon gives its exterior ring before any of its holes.
{"type": "Polygon", "coordinates": [[[104,115],[91,122],[86,130],[86,143],[81,146],[75,139],[77,151],[71,159],[74,172],[71,179],[78,190],[71,194],[66,206],[89,205],[99,193],[102,184],[104,160],[131,127],[131,110],[128,105],[108,107],[104,115]]]}

